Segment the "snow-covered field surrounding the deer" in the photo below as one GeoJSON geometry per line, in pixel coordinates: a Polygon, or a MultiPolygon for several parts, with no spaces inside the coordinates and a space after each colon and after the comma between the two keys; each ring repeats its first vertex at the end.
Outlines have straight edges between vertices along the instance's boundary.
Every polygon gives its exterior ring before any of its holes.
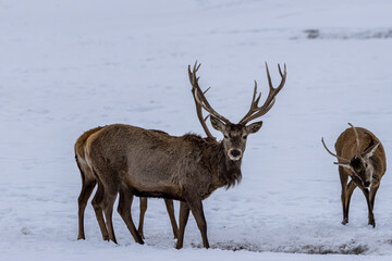
{"type": "Polygon", "coordinates": [[[376,228],[358,189],[343,226],[320,139],[333,148],[347,122],[366,127],[392,165],[391,10],[389,0],[0,0],[0,260],[390,260],[390,169],[376,228]],[[175,250],[161,199],[149,200],[144,246],[117,212],[119,245],[102,241],[90,204],[76,240],[75,140],[112,123],[204,134],[186,72],[195,60],[210,103],[233,122],[254,79],[268,92],[265,61],[275,85],[277,63],[287,65],[248,139],[242,183],[204,201],[211,249],[191,215],[175,250]]]}

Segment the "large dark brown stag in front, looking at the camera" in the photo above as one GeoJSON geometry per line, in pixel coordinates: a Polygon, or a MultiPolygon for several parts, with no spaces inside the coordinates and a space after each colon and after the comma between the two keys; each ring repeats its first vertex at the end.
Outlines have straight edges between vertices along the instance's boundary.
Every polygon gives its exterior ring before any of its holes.
{"type": "Polygon", "coordinates": [[[279,87],[273,88],[266,63],[270,90],[265,103],[258,105],[261,94],[256,97],[255,82],[248,113],[237,124],[233,124],[216,112],[207,101],[196,77],[199,66],[196,62],[191,72],[189,65],[188,76],[197,116],[208,137],[201,138],[193,134],[176,137],[160,130],[113,124],[94,132],[87,138],[84,149],[86,164],[98,176],[105,191],[103,197],[95,198],[95,203],[103,210],[111,240],[115,240],[111,216],[119,192],[118,212],[136,241],[143,244],[131,217],[132,195],[180,200],[176,248],[183,247],[189,211],[201,233],[204,247],[209,247],[203,200],[217,188],[229,188],[241,181],[246,138],[258,132],[262,122],[246,124],[265,115],[273,107],[275,96],[284,86],[286,67],[284,65],[282,73],[278,65],[282,79],[279,87]],[[222,141],[217,141],[208,130],[208,116],[204,119],[203,109],[209,113],[213,128],[223,134],[222,141]]]}

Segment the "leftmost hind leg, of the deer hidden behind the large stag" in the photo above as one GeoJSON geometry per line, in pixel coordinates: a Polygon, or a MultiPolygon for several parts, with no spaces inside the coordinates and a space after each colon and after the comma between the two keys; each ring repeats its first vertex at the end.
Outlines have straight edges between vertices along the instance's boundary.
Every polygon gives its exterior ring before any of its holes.
{"type": "Polygon", "coordinates": [[[94,187],[97,184],[97,181],[93,175],[85,175],[85,173],[82,171],[79,164],[77,163],[77,166],[81,171],[82,175],[82,190],[79,194],[79,197],[77,199],[78,203],[78,235],[77,239],[86,239],[85,233],[84,233],[84,213],[86,210],[88,198],[91,196],[91,192],[94,190],[94,187]]]}

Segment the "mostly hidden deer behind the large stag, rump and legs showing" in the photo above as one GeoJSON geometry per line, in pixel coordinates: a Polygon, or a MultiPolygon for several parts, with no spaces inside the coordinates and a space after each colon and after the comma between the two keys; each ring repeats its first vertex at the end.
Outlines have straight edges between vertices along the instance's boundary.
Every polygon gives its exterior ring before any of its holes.
{"type": "MultiPolygon", "coordinates": [[[[82,176],[82,190],[81,190],[81,194],[78,197],[78,236],[77,236],[77,239],[86,238],[85,233],[84,233],[84,212],[86,209],[88,198],[90,197],[94,187],[98,183],[98,189],[97,189],[97,192],[96,192],[91,203],[93,203],[93,207],[94,207],[94,210],[96,213],[96,217],[97,217],[99,227],[101,229],[102,238],[105,240],[109,240],[108,229],[107,229],[107,226],[103,221],[102,209],[99,204],[97,204],[97,200],[99,201],[99,198],[103,197],[105,190],[103,190],[103,187],[102,187],[101,183],[99,182],[99,179],[97,181],[97,177],[95,176],[94,171],[88,166],[86,159],[85,159],[86,140],[88,139],[88,137],[91,134],[94,134],[100,129],[102,129],[102,127],[96,127],[94,129],[90,129],[90,130],[84,133],[76,140],[76,144],[75,144],[75,159],[76,159],[76,163],[81,171],[81,176],[82,176]]],[[[179,227],[175,222],[173,200],[164,199],[164,203],[167,206],[169,217],[170,217],[170,221],[172,224],[174,238],[176,238],[179,227]]],[[[144,216],[145,216],[146,210],[147,210],[147,198],[140,197],[140,215],[139,215],[139,225],[138,225],[137,232],[142,236],[142,238],[144,238],[143,227],[144,227],[144,216]]]]}

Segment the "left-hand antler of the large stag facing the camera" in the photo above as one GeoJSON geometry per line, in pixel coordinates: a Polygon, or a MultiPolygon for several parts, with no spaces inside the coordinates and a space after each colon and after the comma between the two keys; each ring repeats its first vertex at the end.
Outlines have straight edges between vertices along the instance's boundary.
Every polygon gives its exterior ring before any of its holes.
{"type": "Polygon", "coordinates": [[[191,64],[188,65],[188,75],[189,75],[189,82],[192,84],[192,94],[195,100],[195,105],[196,105],[196,112],[197,112],[197,117],[200,121],[200,124],[206,133],[206,135],[210,138],[216,139],[216,137],[212,136],[212,134],[210,133],[210,130],[207,127],[206,121],[208,119],[209,115],[213,115],[216,117],[218,117],[219,120],[221,120],[224,123],[229,123],[229,120],[225,119],[224,116],[220,115],[218,112],[216,112],[212,107],[209,104],[209,102],[207,101],[205,94],[209,90],[209,88],[206,91],[203,91],[198,85],[198,79],[199,77],[196,77],[196,72],[197,70],[200,67],[201,64],[197,65],[197,61],[195,62],[195,65],[193,67],[193,71],[191,72],[191,64]],[[205,109],[209,114],[204,117],[203,116],[203,109],[205,109]]]}

